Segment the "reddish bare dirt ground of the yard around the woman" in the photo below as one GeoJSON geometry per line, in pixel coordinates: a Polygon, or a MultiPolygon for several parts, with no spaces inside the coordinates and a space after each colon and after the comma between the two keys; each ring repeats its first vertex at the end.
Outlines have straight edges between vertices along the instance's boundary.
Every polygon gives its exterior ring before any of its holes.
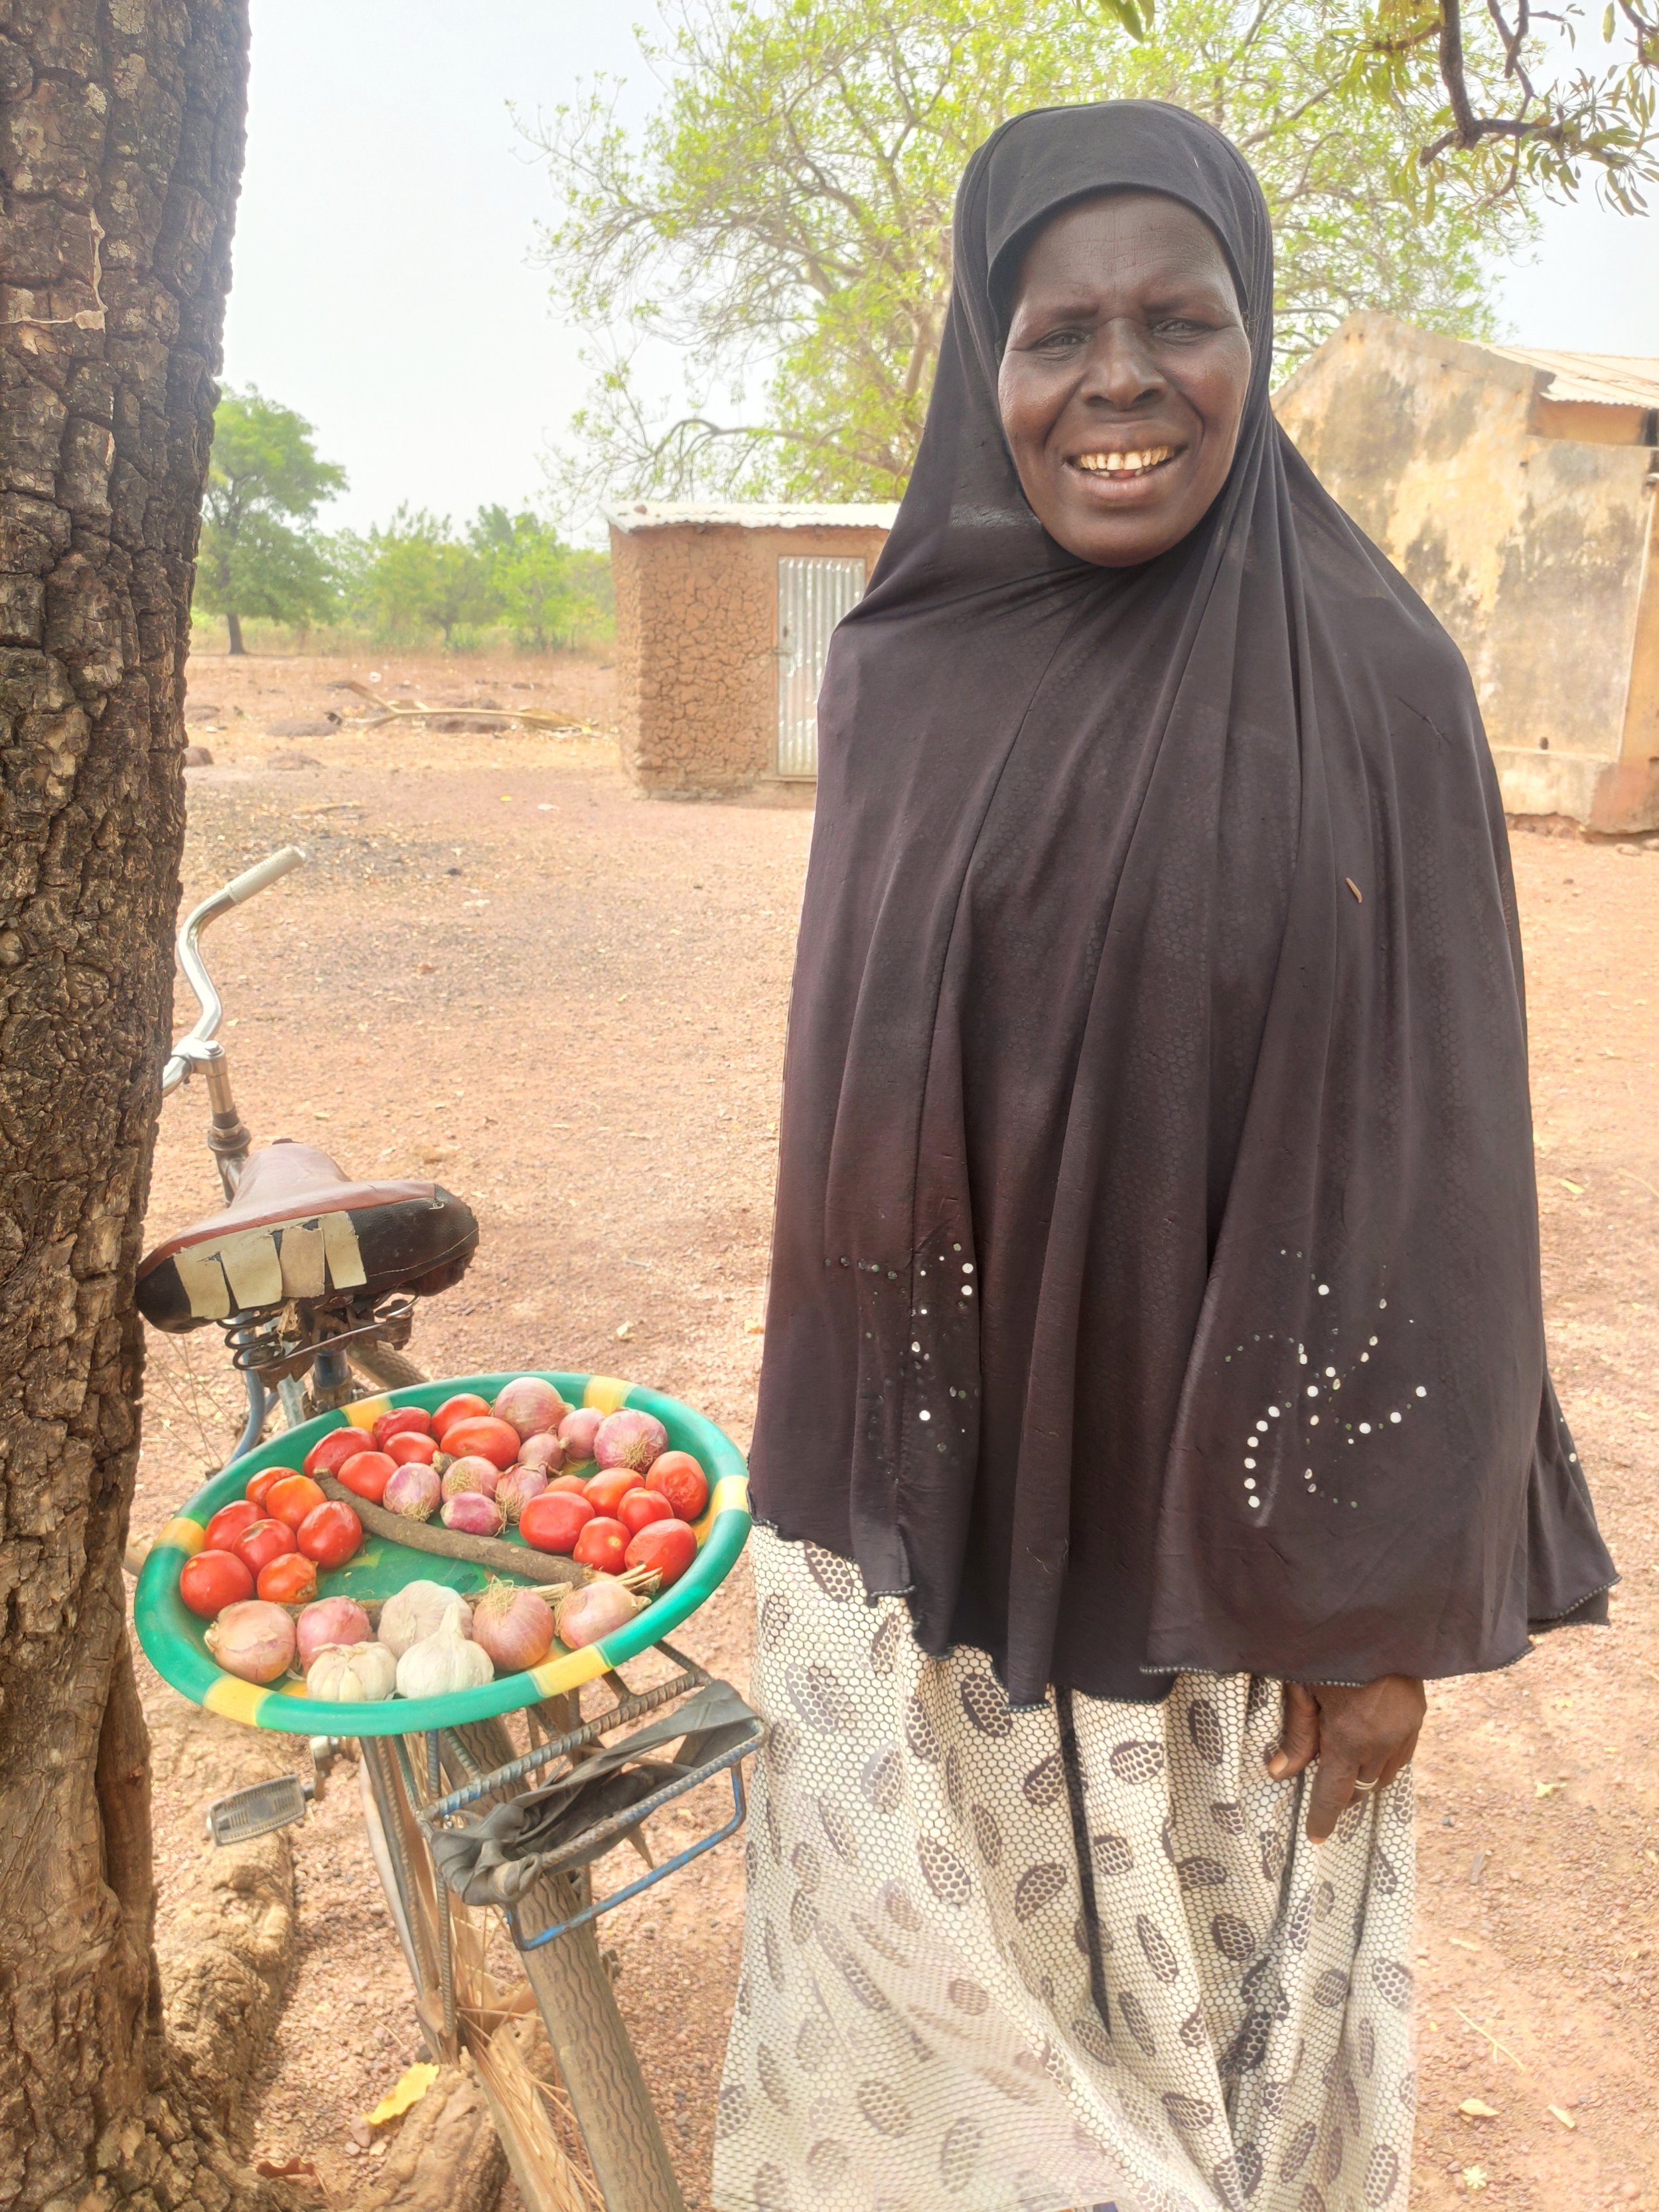
{"type": "MultiPolygon", "coordinates": [[[[626,1374],[748,1442],[810,814],[641,801],[595,737],[270,734],[343,712],[338,686],[372,668],[192,661],[192,737],[215,761],[190,770],[186,902],[276,845],[310,854],[210,938],[243,1117],[257,1141],[436,1175],[473,1203],[478,1261],[411,1345],[431,1374],[626,1374]],[[316,765],[272,765],[294,754],[316,765]]],[[[378,675],[436,703],[611,714],[611,672],[571,657],[394,655],[378,675]]],[[[1413,2205],[1659,2212],[1659,852],[1520,834],[1515,860],[1551,1347],[1624,1582],[1610,1630],[1433,1690],[1413,2205]]],[[[195,1091],[164,1110],[157,1234],[215,1203],[204,1115],[195,1091]]],[[[234,1433],[219,1360],[201,1338],[155,1354],[139,1533],[234,1433]]],[[[743,1683],[741,1568],[684,1641],[743,1683]]],[[[199,1838],[199,1805],[159,1805],[164,1920],[199,1838]]],[[[418,2053],[349,1774],[296,1860],[303,1953],[254,2137],[349,2201],[372,2154],[352,2126],[418,2053]]],[[[606,1924],[690,2205],[708,2203],[739,1927],[737,1845],[606,1924]]]]}

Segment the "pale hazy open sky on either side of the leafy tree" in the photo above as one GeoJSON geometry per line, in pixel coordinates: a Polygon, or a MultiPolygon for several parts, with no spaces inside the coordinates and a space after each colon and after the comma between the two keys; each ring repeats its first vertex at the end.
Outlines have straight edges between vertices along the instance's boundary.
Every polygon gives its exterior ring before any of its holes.
{"type": "MultiPolygon", "coordinates": [[[[606,71],[644,113],[641,15],[650,0],[254,0],[226,376],[310,416],[345,465],[330,522],[540,495],[586,374],[531,261],[551,188],[507,104],[553,108],[606,71]]],[[[1551,210],[1504,312],[1520,345],[1659,354],[1659,226],[1551,210]]]]}

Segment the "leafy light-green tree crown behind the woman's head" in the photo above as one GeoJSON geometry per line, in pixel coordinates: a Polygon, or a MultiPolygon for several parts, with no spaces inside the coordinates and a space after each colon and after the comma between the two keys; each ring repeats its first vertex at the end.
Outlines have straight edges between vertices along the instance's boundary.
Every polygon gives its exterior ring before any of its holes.
{"type": "MultiPolygon", "coordinates": [[[[1659,175],[1655,73],[1568,75],[1551,20],[1522,53],[1548,135],[1425,164],[1451,128],[1438,33],[1440,0],[677,0],[644,122],[602,91],[533,131],[562,206],[542,234],[553,296],[595,378],[562,482],[584,500],[902,491],[958,179],[1037,106],[1168,100],[1248,150],[1276,232],[1276,374],[1356,307],[1489,336],[1495,272],[1548,195],[1597,179],[1632,204],[1659,175]]],[[[1482,9],[1464,51],[1475,113],[1511,115],[1482,9]]]]}

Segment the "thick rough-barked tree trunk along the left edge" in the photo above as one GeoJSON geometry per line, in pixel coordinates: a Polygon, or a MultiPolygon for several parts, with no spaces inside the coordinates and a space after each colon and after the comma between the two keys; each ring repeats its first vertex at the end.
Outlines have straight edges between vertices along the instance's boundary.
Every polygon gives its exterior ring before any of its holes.
{"type": "Polygon", "coordinates": [[[161,2042],[122,1548],[246,75],[243,0],[0,0],[7,2208],[241,2190],[161,2042]]]}

